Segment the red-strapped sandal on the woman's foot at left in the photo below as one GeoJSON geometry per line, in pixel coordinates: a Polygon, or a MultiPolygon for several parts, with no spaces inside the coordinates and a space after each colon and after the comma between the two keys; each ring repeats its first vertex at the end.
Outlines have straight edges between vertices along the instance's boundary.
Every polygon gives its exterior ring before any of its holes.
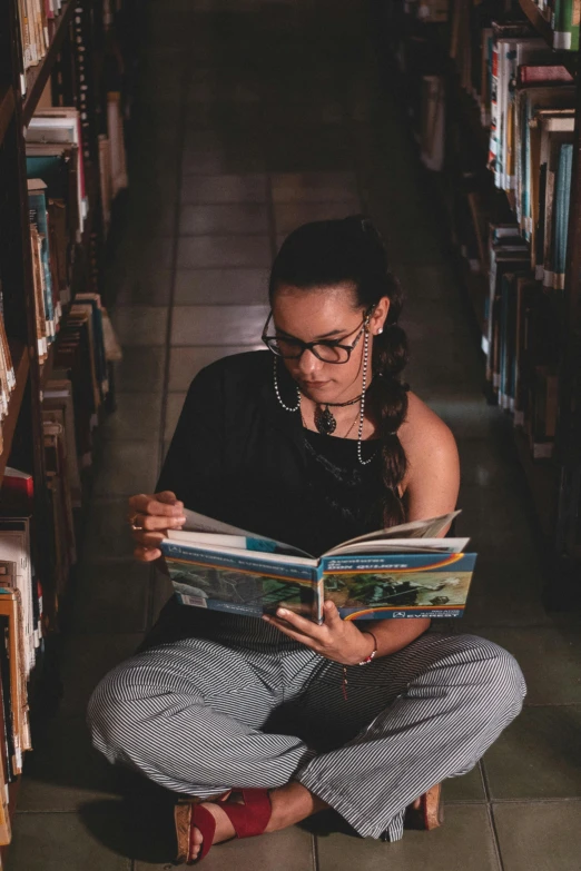
{"type": "MultiPolygon", "coordinates": [[[[228,816],[236,838],[253,838],[263,834],[270,819],[272,805],[268,790],[236,790],[242,792],[244,804],[227,804],[223,799],[220,806],[228,816]]],[[[199,862],[209,852],[216,832],[216,820],[203,808],[199,799],[183,799],[175,808],[176,834],[178,842],[177,862],[188,865],[199,862]],[[194,830],[201,833],[201,845],[197,857],[193,857],[197,844],[194,843],[194,830]]]]}

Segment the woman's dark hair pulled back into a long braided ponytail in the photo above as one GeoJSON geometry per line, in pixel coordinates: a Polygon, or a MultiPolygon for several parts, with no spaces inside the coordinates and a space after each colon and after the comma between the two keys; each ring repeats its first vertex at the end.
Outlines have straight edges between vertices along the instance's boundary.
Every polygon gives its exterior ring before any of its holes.
{"type": "Polygon", "coordinates": [[[397,430],[407,414],[408,386],[400,379],[407,363],[407,338],[397,325],[402,310],[402,289],[387,268],[382,238],[370,220],[361,215],[342,220],[305,224],[283,243],[273,264],[268,296],[270,303],[282,285],[303,288],[349,284],[357,308],[370,309],[382,297],[390,298],[384,330],[373,337],[373,383],[367,400],[380,426],[382,439],[383,523],[401,523],[404,511],[397,497],[407,459],[397,430]]]}

